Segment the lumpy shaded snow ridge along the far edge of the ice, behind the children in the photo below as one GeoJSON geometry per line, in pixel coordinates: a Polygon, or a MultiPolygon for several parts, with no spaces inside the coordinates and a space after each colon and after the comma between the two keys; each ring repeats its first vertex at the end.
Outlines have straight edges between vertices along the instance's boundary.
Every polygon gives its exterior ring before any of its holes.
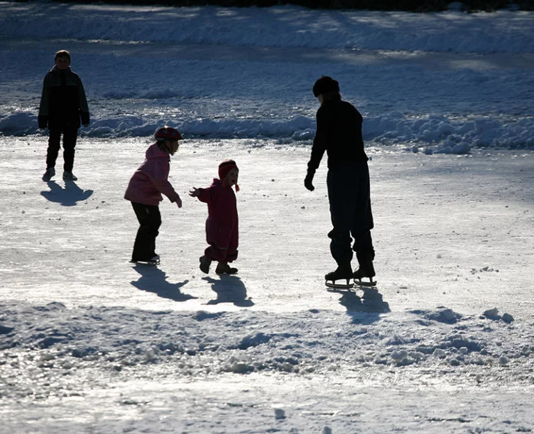
{"type": "MultiPolygon", "coordinates": [[[[81,130],[86,137],[149,137],[168,119],[124,116],[97,119],[81,130]]],[[[171,122],[172,123],[172,122],[171,122]]],[[[207,138],[279,138],[309,143],[315,134],[315,119],[296,117],[289,120],[259,119],[188,119],[172,123],[186,137],[207,138]]],[[[0,131],[4,135],[40,133],[33,112],[0,115],[0,131]]],[[[426,153],[469,153],[472,147],[494,149],[534,149],[534,118],[505,122],[490,117],[452,120],[439,115],[416,119],[393,112],[366,118],[364,140],[369,144],[410,144],[426,153]]],[[[42,133],[42,132],[41,132],[42,133]]]]}

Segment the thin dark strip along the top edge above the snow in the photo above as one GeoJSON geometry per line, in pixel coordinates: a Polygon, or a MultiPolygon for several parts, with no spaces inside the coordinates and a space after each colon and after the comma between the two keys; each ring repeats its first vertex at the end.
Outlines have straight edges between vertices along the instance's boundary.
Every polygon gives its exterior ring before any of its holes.
{"type": "MultiPolygon", "coordinates": [[[[236,6],[268,7],[282,5],[305,6],[312,9],[403,10],[407,12],[437,12],[446,10],[451,0],[62,0],[65,3],[115,3],[161,6],[236,6]]],[[[464,0],[458,2],[466,12],[494,12],[501,9],[534,10],[534,0],[464,0]]]]}

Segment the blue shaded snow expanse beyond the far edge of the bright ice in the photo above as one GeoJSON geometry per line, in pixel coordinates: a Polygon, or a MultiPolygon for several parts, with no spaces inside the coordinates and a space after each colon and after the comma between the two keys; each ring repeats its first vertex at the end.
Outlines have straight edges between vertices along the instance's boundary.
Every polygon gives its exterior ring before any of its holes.
{"type": "Polygon", "coordinates": [[[325,74],[364,114],[366,142],[533,149],[533,19],[0,3],[0,133],[39,132],[42,78],[60,47],[86,86],[90,137],[146,136],[169,122],[188,137],[309,143],[311,88],[325,74]]]}

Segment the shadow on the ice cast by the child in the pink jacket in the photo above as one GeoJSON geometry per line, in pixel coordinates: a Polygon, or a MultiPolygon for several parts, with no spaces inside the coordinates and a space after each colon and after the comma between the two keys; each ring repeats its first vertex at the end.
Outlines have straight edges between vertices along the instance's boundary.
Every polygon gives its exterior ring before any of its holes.
{"type": "Polygon", "coordinates": [[[154,292],[158,297],[174,301],[187,301],[197,298],[190,294],[183,294],[180,291],[180,288],[186,285],[188,280],[181,283],[169,283],[165,272],[161,271],[156,265],[136,265],[133,269],[141,276],[137,281],[131,281],[130,283],[139,290],[154,292]]]}

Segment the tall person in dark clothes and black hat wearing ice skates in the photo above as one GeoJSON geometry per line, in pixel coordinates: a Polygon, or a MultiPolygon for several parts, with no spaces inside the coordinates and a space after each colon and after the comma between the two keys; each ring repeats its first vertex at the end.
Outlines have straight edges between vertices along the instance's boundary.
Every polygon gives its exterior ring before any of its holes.
{"type": "Polygon", "coordinates": [[[314,96],[321,103],[317,110],[317,126],[312,155],[308,162],[305,187],[313,191],[313,178],[321,159],[327,153],[327,190],[330,202],[332,231],[330,252],[337,269],[326,274],[326,281],[335,283],[351,278],[362,283],[362,278],[375,276],[375,251],[371,239],[373,214],[364,141],[363,118],[352,104],[341,99],[339,83],[329,76],[319,78],[313,87],[314,96]],[[351,238],[354,244],[351,248],[351,238]],[[353,274],[351,261],[356,252],[358,269],[353,274]]]}

